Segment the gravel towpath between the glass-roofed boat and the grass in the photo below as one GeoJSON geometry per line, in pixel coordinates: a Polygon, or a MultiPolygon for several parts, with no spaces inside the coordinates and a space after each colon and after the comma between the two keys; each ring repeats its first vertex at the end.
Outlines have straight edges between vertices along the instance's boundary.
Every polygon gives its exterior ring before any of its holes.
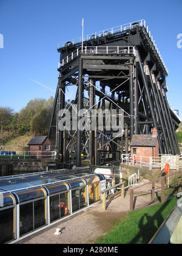
{"type": "MultiPolygon", "coordinates": [[[[147,183],[149,180],[143,180],[147,183]]],[[[152,185],[144,185],[134,193],[134,208],[140,208],[151,200],[152,185]]],[[[160,183],[155,185],[155,194],[160,191],[160,183]]],[[[120,194],[107,199],[106,211],[103,212],[99,202],[89,208],[81,210],[72,216],[62,219],[53,226],[47,227],[16,243],[24,244],[92,244],[96,239],[106,235],[115,224],[126,216],[130,207],[130,193],[126,191],[124,199],[120,194]],[[61,230],[61,235],[55,235],[56,229],[61,230]]]]}

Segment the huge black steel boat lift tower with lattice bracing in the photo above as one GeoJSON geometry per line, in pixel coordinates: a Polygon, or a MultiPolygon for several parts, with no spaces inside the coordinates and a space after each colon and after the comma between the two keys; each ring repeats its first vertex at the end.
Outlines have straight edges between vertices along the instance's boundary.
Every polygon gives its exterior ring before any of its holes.
{"type": "Polygon", "coordinates": [[[154,127],[160,154],[180,154],[175,135],[180,118],[166,98],[167,68],[144,20],[88,35],[84,41],[68,41],[58,52],[59,78],[48,135],[55,141],[59,163],[69,162],[69,152],[76,153],[76,166],[81,166],[83,155],[91,165],[120,159],[121,153],[129,152],[132,135],[152,134],[154,127]],[[117,124],[124,116],[117,137],[112,126],[107,127],[113,115],[106,109],[115,110],[117,124]],[[90,129],[90,113],[95,113],[95,129],[90,129]]]}

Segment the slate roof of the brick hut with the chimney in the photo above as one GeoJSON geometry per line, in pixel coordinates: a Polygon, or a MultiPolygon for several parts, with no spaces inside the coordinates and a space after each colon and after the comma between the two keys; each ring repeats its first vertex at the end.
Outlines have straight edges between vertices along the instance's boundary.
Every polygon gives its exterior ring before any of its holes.
{"type": "Polygon", "coordinates": [[[157,136],[153,135],[133,135],[130,146],[138,147],[155,147],[157,136]]]}

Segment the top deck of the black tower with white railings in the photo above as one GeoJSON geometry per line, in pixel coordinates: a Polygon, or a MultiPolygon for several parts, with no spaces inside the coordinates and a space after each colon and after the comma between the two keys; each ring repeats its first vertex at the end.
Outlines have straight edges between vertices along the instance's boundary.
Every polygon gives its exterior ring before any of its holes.
{"type": "MultiPolygon", "coordinates": [[[[59,67],[64,65],[68,60],[73,60],[73,56],[78,56],[81,53],[87,53],[83,51],[84,46],[101,46],[102,44],[109,43],[111,41],[120,40],[121,37],[126,35],[132,35],[133,32],[138,29],[140,35],[140,41],[147,52],[150,52],[150,57],[158,63],[164,77],[168,75],[168,70],[163,58],[161,57],[160,51],[153,40],[151,32],[146,26],[145,20],[133,21],[132,23],[123,24],[110,29],[104,29],[99,32],[94,32],[90,35],[86,35],[83,38],[75,38],[73,40],[64,41],[58,44],[58,52],[64,52],[65,49],[70,48],[71,52],[68,52],[67,57],[63,57],[59,62],[59,67]]],[[[135,46],[135,45],[131,45],[135,46]]],[[[84,48],[86,50],[86,48],[84,48]]],[[[96,51],[96,50],[95,50],[96,51]]],[[[101,52],[97,52],[100,54],[101,52]]],[[[76,57],[77,57],[76,56],[76,57]]]]}

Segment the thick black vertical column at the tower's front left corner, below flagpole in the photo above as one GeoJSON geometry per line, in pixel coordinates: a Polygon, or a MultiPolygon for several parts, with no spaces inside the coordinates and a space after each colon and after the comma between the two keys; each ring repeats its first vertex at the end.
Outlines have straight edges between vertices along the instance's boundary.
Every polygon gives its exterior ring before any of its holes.
{"type": "Polygon", "coordinates": [[[79,110],[83,109],[83,59],[79,58],[79,69],[78,69],[78,116],[77,116],[77,135],[76,135],[76,166],[81,166],[81,133],[78,122],[82,118],[79,116],[79,110]]]}

